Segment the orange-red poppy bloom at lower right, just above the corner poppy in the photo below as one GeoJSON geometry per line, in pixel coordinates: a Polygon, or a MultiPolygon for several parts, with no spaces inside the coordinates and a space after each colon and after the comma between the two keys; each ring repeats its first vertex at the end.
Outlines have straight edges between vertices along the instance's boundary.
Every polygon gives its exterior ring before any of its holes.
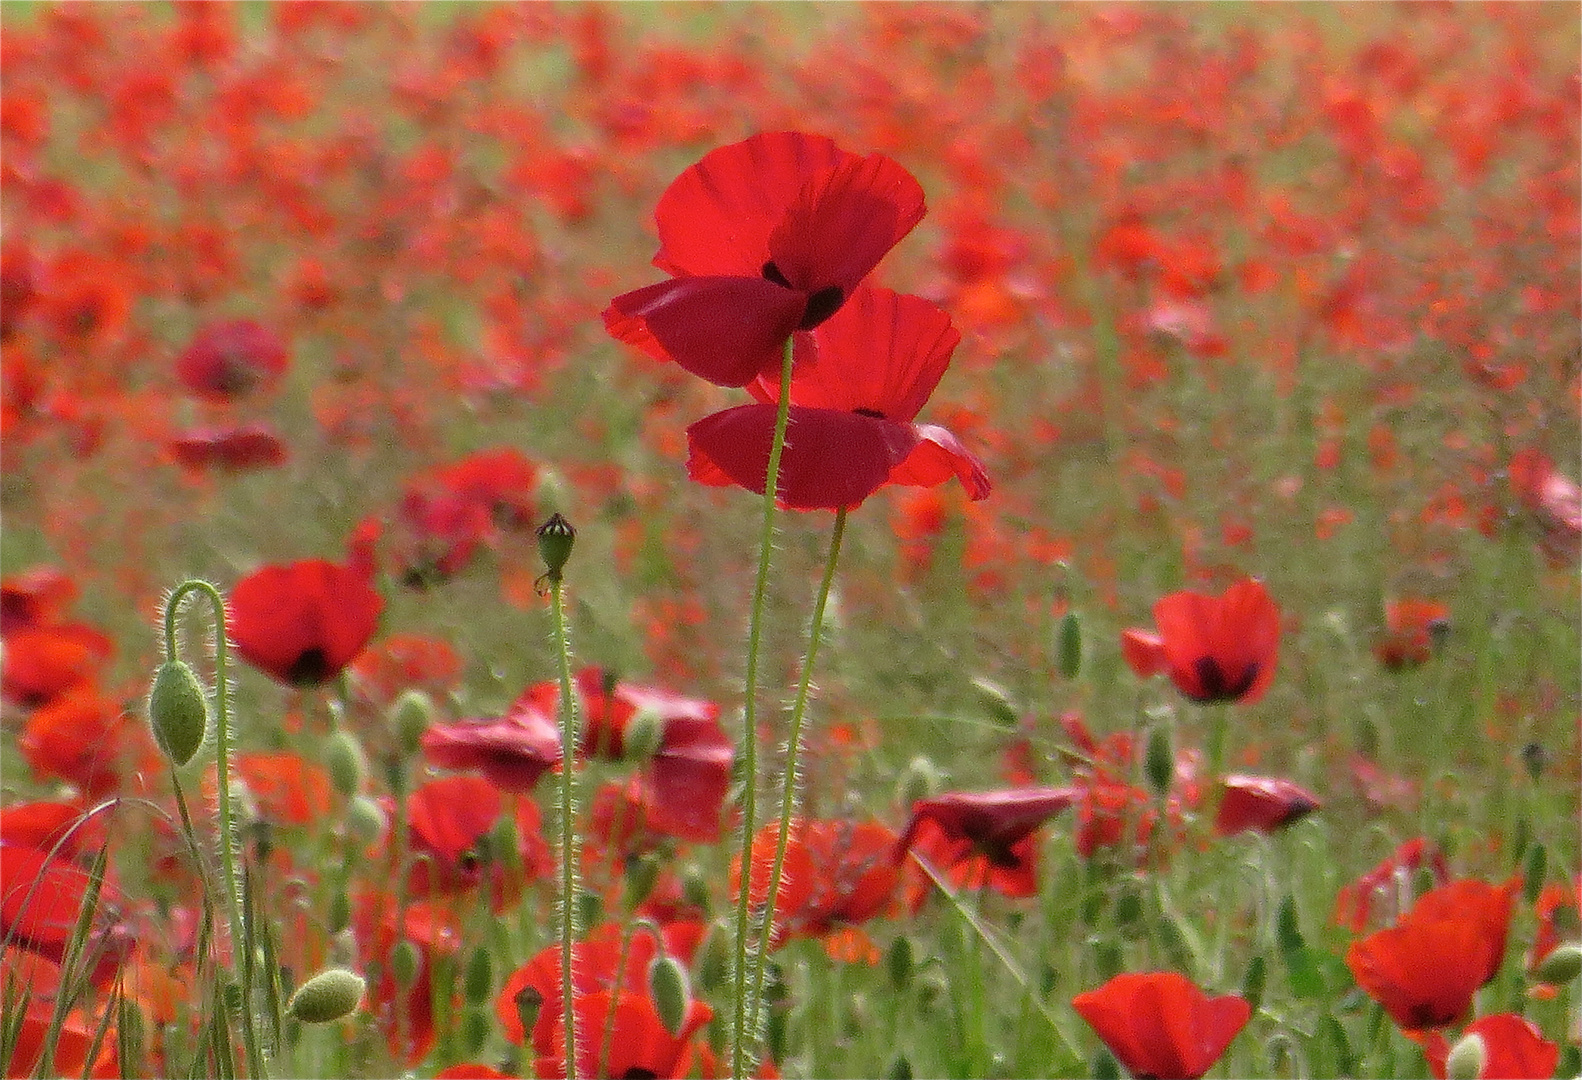
{"type": "Polygon", "coordinates": [[[1346,966],[1402,1029],[1455,1023],[1504,960],[1519,887],[1455,881],[1427,892],[1394,927],[1351,942],[1346,966]]]}

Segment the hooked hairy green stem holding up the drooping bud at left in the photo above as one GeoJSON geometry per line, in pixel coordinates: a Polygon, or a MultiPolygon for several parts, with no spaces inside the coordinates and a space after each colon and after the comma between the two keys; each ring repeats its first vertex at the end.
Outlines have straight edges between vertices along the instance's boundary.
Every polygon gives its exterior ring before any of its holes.
{"type": "Polygon", "coordinates": [[[176,615],[182,601],[193,593],[202,593],[214,609],[214,731],[215,731],[215,789],[220,802],[220,863],[225,870],[225,900],[231,923],[231,977],[242,990],[242,1040],[247,1047],[247,1069],[255,1077],[267,1077],[264,1055],[253,1029],[253,938],[242,917],[242,879],[237,873],[236,816],[231,805],[231,683],[229,653],[225,629],[225,598],[220,590],[204,580],[187,580],[176,587],[165,602],[165,656],[177,659],[176,615]]]}

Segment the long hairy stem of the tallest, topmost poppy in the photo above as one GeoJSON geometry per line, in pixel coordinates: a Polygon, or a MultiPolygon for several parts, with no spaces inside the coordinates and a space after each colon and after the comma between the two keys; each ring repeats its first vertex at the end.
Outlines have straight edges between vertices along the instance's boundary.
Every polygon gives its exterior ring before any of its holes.
{"type": "MultiPolygon", "coordinates": [[[[747,628],[747,700],[742,712],[742,889],[736,898],[736,965],[732,966],[731,1077],[742,1080],[758,1045],[758,1028],[748,1028],[747,952],[751,938],[753,832],[758,829],[758,645],[763,639],[764,595],[769,591],[769,553],[775,546],[775,495],[780,492],[780,452],[791,421],[791,361],[794,337],[786,338],[780,361],[780,405],[775,435],[769,443],[764,471],[764,527],[758,546],[758,582],[753,585],[753,612],[747,628]]],[[[751,1015],[758,1017],[758,1009],[751,1015]]]]}

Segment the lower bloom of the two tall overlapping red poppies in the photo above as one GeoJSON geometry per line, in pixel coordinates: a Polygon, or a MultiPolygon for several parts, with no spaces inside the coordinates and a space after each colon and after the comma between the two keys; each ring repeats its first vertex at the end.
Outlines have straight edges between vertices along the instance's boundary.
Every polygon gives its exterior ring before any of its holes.
{"type": "MultiPolygon", "coordinates": [[[[927,300],[870,288],[799,338],[780,501],[793,509],[853,508],[886,484],[933,487],[952,476],[971,498],[987,497],[982,463],[954,435],[913,424],[959,340],[949,316],[927,300]]],[[[763,493],[778,376],[747,389],[756,405],[706,416],[687,429],[687,471],[702,484],[763,493]]]]}

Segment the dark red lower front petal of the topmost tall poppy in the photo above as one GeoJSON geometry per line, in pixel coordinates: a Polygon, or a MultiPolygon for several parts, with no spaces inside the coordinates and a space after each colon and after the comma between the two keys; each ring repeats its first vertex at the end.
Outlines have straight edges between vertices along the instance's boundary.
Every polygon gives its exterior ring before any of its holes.
{"type": "Polygon", "coordinates": [[[623,293],[604,310],[612,337],[715,386],[778,372],[807,296],[761,277],[683,277],[623,293]]]}

